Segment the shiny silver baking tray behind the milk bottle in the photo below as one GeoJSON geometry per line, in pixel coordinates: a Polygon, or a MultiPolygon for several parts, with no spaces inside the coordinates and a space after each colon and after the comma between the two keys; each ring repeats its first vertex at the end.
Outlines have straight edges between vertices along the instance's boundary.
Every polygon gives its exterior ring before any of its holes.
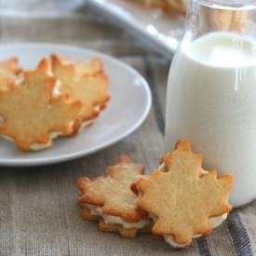
{"type": "Polygon", "coordinates": [[[178,46],[184,23],[182,16],[164,15],[132,0],[86,0],[86,3],[169,59],[178,46]]]}

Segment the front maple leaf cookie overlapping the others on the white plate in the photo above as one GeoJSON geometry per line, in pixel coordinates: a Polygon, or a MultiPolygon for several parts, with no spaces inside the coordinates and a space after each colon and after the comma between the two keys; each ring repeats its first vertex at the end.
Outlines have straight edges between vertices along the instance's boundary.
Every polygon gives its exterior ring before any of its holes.
{"type": "Polygon", "coordinates": [[[0,91],[0,135],[27,151],[48,147],[53,138],[73,133],[83,105],[66,95],[54,96],[56,82],[43,59],[34,71],[24,72],[20,87],[0,91]]]}

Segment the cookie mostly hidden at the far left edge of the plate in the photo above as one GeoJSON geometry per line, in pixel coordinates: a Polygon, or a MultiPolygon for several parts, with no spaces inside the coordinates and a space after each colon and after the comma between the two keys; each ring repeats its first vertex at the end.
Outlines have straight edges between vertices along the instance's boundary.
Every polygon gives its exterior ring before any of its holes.
{"type": "Polygon", "coordinates": [[[16,84],[21,68],[16,57],[7,61],[0,61],[0,89],[7,89],[9,85],[16,84]]]}

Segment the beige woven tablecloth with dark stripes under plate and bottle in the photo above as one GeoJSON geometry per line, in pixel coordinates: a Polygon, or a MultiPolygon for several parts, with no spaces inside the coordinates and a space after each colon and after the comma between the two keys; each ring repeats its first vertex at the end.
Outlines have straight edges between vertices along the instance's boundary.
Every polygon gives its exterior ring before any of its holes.
{"type": "Polygon", "coordinates": [[[0,255],[253,255],[256,202],[234,210],[212,236],[196,239],[186,249],[171,249],[149,235],[124,239],[104,234],[95,222],[82,221],[76,203],[78,177],[102,174],[121,153],[148,171],[156,168],[163,154],[169,63],[87,7],[58,18],[25,16],[0,14],[2,43],[57,42],[101,50],[144,75],[154,102],[141,128],[97,154],[47,167],[0,168],[0,255]]]}

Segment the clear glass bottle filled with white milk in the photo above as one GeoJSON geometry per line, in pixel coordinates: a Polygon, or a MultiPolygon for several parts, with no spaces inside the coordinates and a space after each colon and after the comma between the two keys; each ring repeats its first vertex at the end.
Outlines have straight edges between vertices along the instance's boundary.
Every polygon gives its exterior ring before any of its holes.
{"type": "Polygon", "coordinates": [[[188,139],[231,172],[231,203],[256,199],[256,1],[192,0],[168,77],[165,150],[188,139]]]}

